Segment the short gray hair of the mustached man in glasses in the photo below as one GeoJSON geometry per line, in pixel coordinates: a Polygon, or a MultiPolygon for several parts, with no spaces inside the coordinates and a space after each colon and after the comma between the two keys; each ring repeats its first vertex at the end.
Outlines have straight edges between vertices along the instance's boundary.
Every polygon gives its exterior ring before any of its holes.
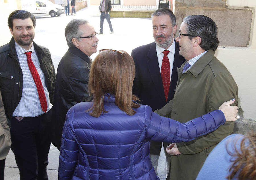
{"type": "MultiPolygon", "coordinates": [[[[72,39],[75,37],[82,36],[83,31],[80,30],[79,27],[86,23],[88,23],[88,21],[84,19],[73,19],[67,24],[65,28],[65,37],[67,40],[68,47],[75,47],[75,45],[72,42],[72,39]]],[[[78,39],[78,41],[80,41],[80,39],[78,39]]]]}

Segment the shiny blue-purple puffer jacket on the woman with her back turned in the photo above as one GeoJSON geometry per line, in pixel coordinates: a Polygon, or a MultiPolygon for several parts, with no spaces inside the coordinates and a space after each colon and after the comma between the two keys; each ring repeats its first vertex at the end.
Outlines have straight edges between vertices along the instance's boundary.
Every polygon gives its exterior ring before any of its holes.
{"type": "Polygon", "coordinates": [[[95,118],[85,112],[91,103],[80,102],[67,112],[59,179],[159,179],[149,157],[150,140],[190,141],[225,123],[221,110],[187,123],[159,116],[145,105],[129,116],[115,105],[113,95],[104,97],[108,113],[95,118]]]}

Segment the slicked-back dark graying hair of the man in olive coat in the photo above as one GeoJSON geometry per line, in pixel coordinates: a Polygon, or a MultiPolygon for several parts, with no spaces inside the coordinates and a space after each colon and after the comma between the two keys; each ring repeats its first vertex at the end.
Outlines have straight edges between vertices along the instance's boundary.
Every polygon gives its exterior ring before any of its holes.
{"type": "Polygon", "coordinates": [[[205,51],[212,49],[215,51],[219,45],[218,28],[215,22],[204,15],[192,15],[183,19],[187,24],[186,33],[190,34],[189,39],[201,37],[200,47],[205,51]]]}

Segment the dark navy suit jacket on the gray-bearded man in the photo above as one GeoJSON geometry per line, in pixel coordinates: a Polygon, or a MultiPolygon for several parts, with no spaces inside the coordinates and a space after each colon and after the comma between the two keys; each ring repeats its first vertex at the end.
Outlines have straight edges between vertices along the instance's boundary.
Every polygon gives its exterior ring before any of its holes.
{"type": "MultiPolygon", "coordinates": [[[[175,54],[172,68],[172,77],[167,102],[175,93],[177,84],[177,67],[185,61],[179,55],[179,43],[175,40],[175,54]]],[[[156,54],[156,43],[150,43],[133,49],[131,56],[135,63],[135,79],[133,81],[133,94],[139,97],[141,104],[146,104],[152,110],[161,109],[167,102],[156,54]]]]}

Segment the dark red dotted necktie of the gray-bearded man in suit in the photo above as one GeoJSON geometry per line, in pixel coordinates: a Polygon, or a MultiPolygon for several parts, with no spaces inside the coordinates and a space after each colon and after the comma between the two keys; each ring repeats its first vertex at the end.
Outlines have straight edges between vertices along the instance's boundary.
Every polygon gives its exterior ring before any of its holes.
{"type": "Polygon", "coordinates": [[[162,82],[164,85],[164,95],[167,102],[169,88],[170,88],[170,62],[169,58],[167,57],[168,53],[170,51],[165,50],[162,53],[164,54],[163,61],[162,61],[162,67],[161,67],[161,77],[162,82]]]}

